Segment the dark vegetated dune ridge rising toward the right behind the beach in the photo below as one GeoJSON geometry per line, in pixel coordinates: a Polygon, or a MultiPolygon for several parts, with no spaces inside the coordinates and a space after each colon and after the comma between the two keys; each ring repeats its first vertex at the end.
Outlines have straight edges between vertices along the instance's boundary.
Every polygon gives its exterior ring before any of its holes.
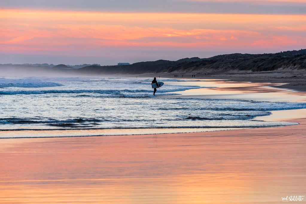
{"type": "Polygon", "coordinates": [[[78,71],[84,74],[143,74],[254,72],[306,69],[306,49],[275,54],[226,54],[210,58],[185,58],[177,61],[157,60],[121,66],[87,66],[78,71]]]}

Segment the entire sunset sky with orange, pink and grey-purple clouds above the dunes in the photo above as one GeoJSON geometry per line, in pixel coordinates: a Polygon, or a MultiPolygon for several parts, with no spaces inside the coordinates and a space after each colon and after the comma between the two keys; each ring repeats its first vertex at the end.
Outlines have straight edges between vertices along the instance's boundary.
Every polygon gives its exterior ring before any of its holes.
{"type": "Polygon", "coordinates": [[[306,48],[306,0],[1,0],[0,64],[113,65],[306,48]]]}

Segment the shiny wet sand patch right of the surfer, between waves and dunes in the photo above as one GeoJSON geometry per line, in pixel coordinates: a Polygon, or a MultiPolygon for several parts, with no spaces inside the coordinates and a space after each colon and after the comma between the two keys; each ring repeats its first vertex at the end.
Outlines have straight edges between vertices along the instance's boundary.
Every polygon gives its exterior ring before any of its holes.
{"type": "MultiPolygon", "coordinates": [[[[192,79],[188,82],[167,82],[178,85],[200,86],[206,88],[178,91],[180,95],[159,96],[163,98],[201,98],[258,100],[273,102],[304,102],[306,92],[281,88],[283,83],[233,82],[221,79],[192,79]],[[204,80],[204,81],[197,81],[204,80]],[[211,88],[210,88],[211,87],[211,88]]],[[[158,94],[158,92],[157,92],[158,94]]]]}

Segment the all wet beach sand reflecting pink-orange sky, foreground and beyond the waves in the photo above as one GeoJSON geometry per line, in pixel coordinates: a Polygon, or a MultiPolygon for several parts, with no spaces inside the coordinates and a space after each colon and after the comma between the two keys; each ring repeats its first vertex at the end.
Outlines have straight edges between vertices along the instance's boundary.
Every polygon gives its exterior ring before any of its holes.
{"type": "MultiPolygon", "coordinates": [[[[241,84],[220,88],[229,94],[211,95],[248,94],[250,100],[277,94],[277,100],[289,101],[305,96],[274,85],[241,84]]],[[[161,97],[205,97],[203,90],[161,97]]],[[[305,110],[252,119],[299,123],[290,126],[1,139],[0,203],[281,203],[306,190],[305,110]]]]}

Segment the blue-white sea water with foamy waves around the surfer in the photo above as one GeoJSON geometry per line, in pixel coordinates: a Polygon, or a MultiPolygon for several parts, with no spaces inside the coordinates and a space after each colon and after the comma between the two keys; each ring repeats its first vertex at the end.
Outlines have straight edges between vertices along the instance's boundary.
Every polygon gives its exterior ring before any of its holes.
{"type": "MultiPolygon", "coordinates": [[[[151,81],[120,77],[3,77],[0,131],[286,126],[296,123],[250,119],[270,115],[273,110],[306,108],[306,103],[154,97],[151,81]]],[[[165,85],[158,89],[158,96],[209,88],[167,84],[183,79],[161,81],[165,85]]]]}

